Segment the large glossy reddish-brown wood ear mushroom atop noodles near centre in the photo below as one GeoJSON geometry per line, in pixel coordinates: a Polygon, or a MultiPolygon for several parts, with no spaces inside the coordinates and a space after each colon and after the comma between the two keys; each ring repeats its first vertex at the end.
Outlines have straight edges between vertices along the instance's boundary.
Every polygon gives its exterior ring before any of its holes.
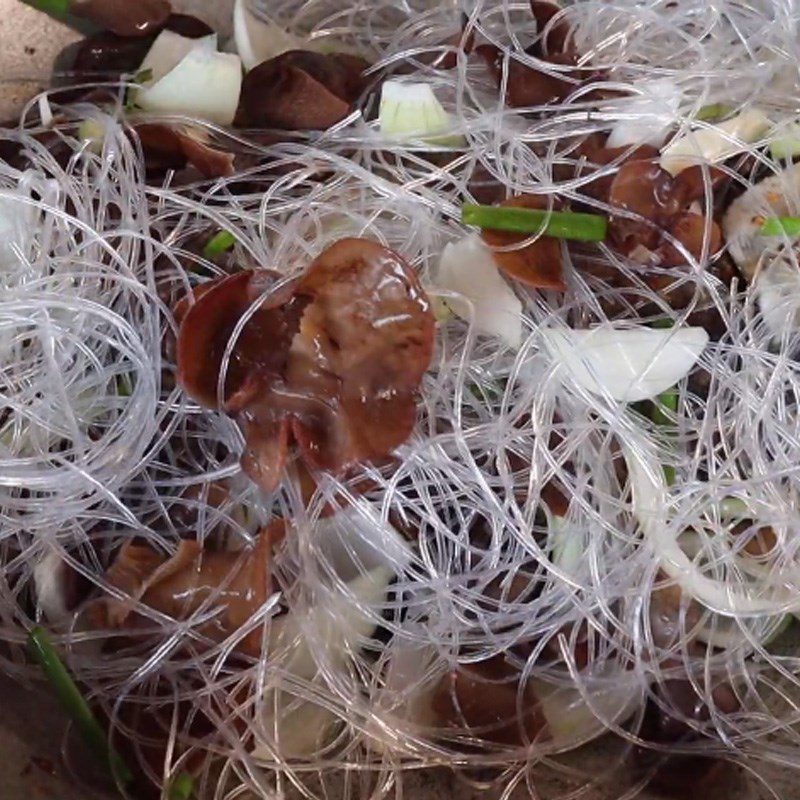
{"type": "Polygon", "coordinates": [[[267,490],[293,443],[307,465],[337,474],[389,456],[411,433],[433,348],[433,315],[413,271],[376,242],[343,239],[259,301],[271,280],[264,275],[219,280],[185,314],[183,388],[236,418],[242,466],[267,490]],[[248,310],[218,398],[223,355],[248,310]]]}

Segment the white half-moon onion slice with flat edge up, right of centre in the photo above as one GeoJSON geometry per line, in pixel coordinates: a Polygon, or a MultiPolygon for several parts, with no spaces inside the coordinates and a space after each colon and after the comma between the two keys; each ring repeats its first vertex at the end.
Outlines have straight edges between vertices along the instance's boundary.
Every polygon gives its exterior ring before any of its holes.
{"type": "Polygon", "coordinates": [[[651,400],[685,377],[708,342],[703,328],[543,328],[551,355],[588,392],[651,400]]]}

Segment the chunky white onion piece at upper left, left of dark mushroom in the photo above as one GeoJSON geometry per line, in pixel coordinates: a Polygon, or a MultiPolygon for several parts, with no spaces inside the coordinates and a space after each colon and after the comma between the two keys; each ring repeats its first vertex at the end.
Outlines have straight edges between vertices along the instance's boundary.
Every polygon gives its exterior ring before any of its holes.
{"type": "MultiPolygon", "coordinates": [[[[187,114],[230,125],[239,105],[242,63],[237,55],[210,49],[210,38],[197,40],[201,44],[191,48],[163,77],[139,89],[136,104],[145,111],[187,114]]],[[[161,64],[157,66],[161,68],[161,64]]]]}

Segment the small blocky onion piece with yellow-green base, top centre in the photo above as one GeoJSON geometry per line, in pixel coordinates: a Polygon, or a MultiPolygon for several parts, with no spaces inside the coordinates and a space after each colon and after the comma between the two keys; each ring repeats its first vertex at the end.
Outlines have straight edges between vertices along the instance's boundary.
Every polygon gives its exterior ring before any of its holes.
{"type": "Polygon", "coordinates": [[[378,124],[381,134],[396,139],[421,139],[452,147],[464,141],[462,136],[446,135],[452,120],[429,83],[385,81],[381,88],[378,124]]]}

